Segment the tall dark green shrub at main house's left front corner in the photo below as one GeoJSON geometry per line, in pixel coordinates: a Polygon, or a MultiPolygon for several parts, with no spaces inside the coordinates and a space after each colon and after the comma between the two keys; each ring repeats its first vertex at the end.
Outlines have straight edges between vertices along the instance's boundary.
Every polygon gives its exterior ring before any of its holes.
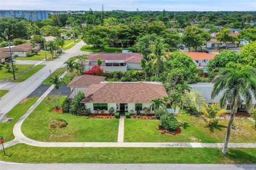
{"type": "Polygon", "coordinates": [[[86,114],[86,106],[80,101],[84,98],[83,92],[78,92],[75,98],[72,100],[69,112],[73,115],[85,115],[86,114]]]}

